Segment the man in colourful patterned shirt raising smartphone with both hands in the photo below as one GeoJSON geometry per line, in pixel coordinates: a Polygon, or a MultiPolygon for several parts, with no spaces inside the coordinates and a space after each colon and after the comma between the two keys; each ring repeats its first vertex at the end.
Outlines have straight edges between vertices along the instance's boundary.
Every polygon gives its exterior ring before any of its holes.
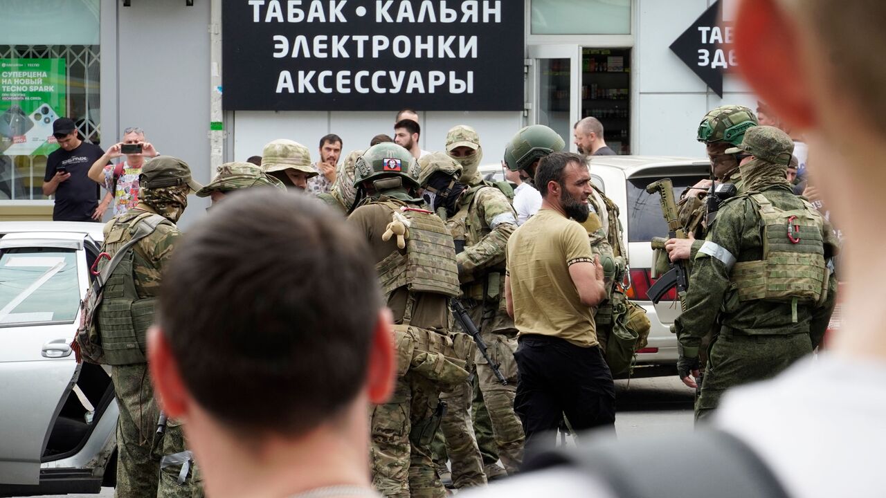
{"type": "Polygon", "coordinates": [[[105,198],[98,205],[98,219],[113,200],[113,215],[124,214],[138,204],[138,175],[142,172],[144,159],[156,157],[154,146],[144,141],[144,130],[131,127],[123,130],[123,140],[113,144],[102,157],[89,168],[89,178],[105,187],[105,198]],[[111,160],[126,156],[123,162],[112,164],[111,160]]]}

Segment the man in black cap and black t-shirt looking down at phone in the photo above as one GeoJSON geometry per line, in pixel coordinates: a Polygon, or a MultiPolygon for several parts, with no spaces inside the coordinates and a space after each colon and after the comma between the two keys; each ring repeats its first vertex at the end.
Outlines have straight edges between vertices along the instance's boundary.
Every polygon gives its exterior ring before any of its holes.
{"type": "Polygon", "coordinates": [[[89,181],[89,166],[102,157],[101,147],[81,140],[74,120],[58,118],[52,123],[58,150],[46,159],[43,195],[55,194],[52,220],[56,222],[101,221],[98,188],[89,181]]]}

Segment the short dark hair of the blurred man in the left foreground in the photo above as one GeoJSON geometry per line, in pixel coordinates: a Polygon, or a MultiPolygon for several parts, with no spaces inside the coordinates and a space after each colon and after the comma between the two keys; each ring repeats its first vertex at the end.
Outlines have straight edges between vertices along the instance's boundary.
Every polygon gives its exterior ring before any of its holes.
{"type": "Polygon", "coordinates": [[[229,431],[298,437],[336,420],[366,384],[384,306],[375,266],[314,198],[232,195],[175,248],[157,323],[185,387],[229,431]]]}

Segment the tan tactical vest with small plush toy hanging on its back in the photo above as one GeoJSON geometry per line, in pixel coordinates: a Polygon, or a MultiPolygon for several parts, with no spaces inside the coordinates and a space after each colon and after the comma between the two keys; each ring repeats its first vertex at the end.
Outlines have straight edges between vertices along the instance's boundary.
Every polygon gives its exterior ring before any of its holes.
{"type": "MultiPolygon", "coordinates": [[[[458,296],[455,245],[443,221],[436,214],[406,203],[385,200],[378,204],[387,207],[392,215],[400,213],[409,221],[406,254],[394,251],[376,264],[382,292],[390,295],[406,285],[410,297],[414,292],[458,296]]],[[[410,311],[407,307],[407,313],[410,311]]]]}

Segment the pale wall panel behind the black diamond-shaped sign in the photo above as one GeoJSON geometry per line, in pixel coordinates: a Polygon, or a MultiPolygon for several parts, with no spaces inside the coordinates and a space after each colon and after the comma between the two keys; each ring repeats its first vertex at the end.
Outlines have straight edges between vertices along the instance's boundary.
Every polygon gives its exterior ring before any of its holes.
{"type": "Polygon", "coordinates": [[[704,148],[696,142],[696,132],[705,113],[718,105],[756,108],[757,97],[736,77],[726,76],[720,98],[669,48],[710,4],[709,0],[634,4],[639,10],[633,66],[639,82],[633,95],[638,120],[634,153],[701,157],[704,148]]]}

